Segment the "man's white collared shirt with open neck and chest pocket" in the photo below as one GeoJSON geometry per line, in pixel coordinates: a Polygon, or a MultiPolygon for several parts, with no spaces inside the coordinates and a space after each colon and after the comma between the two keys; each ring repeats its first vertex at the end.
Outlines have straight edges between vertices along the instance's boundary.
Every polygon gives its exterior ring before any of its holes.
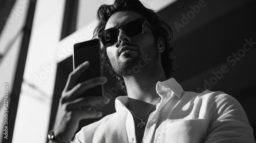
{"type": "MultiPolygon", "coordinates": [[[[245,111],[233,97],[187,92],[174,78],[158,82],[156,91],[161,101],[148,118],[142,142],[255,142],[245,111]]],[[[116,98],[116,112],[83,127],[73,142],[137,142],[127,102],[127,96],[116,98]]]]}

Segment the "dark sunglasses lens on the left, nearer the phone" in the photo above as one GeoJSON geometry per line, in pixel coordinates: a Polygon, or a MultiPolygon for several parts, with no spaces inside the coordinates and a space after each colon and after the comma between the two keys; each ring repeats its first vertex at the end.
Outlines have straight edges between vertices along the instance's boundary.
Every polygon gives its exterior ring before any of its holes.
{"type": "Polygon", "coordinates": [[[101,41],[105,46],[114,44],[117,41],[117,37],[118,33],[116,29],[107,29],[100,36],[101,41]]]}

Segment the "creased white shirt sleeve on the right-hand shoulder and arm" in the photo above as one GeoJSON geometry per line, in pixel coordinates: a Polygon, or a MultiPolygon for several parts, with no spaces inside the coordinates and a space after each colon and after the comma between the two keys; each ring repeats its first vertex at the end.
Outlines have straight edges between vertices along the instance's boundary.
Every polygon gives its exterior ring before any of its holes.
{"type": "Polygon", "coordinates": [[[253,130],[241,104],[227,94],[219,94],[208,106],[209,129],[206,143],[255,142],[253,130]]]}

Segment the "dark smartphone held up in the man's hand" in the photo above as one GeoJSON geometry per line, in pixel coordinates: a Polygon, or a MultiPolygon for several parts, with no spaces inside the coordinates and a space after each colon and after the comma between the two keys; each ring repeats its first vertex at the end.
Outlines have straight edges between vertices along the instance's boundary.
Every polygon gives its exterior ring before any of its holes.
{"type": "MultiPolygon", "coordinates": [[[[90,65],[78,78],[77,83],[87,81],[93,78],[102,77],[102,67],[100,58],[100,41],[93,39],[74,44],[73,68],[89,61],[90,65]]],[[[81,93],[80,97],[96,97],[103,96],[103,85],[95,86],[81,93]]]]}

